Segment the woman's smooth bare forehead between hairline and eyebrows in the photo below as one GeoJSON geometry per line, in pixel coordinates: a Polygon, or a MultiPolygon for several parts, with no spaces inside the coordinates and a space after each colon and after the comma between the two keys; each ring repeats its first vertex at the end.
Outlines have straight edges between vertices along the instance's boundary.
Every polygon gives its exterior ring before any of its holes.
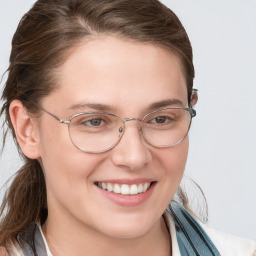
{"type": "Polygon", "coordinates": [[[139,109],[176,98],[185,105],[187,99],[182,66],[174,54],[115,37],[76,46],[61,67],[58,82],[59,89],[50,97],[62,108],[89,102],[139,109]]]}

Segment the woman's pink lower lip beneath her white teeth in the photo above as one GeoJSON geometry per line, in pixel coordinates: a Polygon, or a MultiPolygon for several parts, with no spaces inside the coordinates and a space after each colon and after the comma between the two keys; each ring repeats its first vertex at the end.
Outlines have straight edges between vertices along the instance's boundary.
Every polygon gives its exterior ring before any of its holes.
{"type": "Polygon", "coordinates": [[[98,186],[97,188],[100,190],[103,196],[108,198],[110,201],[120,206],[132,207],[132,206],[138,206],[144,203],[153,193],[155,185],[156,185],[156,182],[153,182],[146,192],[143,192],[137,195],[116,194],[114,192],[109,192],[107,190],[99,188],[98,186]]]}

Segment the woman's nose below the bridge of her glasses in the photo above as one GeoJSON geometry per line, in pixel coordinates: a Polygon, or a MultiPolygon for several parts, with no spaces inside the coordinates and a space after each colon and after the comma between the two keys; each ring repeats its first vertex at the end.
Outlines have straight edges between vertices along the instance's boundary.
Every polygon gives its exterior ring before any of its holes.
{"type": "Polygon", "coordinates": [[[140,170],[152,159],[148,147],[138,125],[129,124],[125,128],[121,141],[112,149],[112,162],[116,166],[132,171],[140,170]]]}

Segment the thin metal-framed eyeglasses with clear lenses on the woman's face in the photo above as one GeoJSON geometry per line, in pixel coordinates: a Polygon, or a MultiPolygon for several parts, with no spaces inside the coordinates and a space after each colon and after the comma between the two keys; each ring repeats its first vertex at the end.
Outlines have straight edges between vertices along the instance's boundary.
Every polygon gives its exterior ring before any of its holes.
{"type": "Polygon", "coordinates": [[[139,121],[144,140],[153,147],[172,147],[187,136],[192,117],[192,107],[162,108],[142,118],[124,118],[105,112],[84,112],[62,120],[43,109],[62,124],[68,125],[70,140],[76,148],[87,153],[102,153],[114,148],[121,140],[128,121],[139,121]]]}

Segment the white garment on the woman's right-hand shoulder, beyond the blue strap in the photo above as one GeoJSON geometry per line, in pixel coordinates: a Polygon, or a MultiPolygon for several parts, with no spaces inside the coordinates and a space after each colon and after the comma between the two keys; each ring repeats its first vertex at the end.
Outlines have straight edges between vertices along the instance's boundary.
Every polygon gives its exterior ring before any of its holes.
{"type": "Polygon", "coordinates": [[[217,231],[200,223],[222,256],[256,256],[256,241],[217,231]]]}

